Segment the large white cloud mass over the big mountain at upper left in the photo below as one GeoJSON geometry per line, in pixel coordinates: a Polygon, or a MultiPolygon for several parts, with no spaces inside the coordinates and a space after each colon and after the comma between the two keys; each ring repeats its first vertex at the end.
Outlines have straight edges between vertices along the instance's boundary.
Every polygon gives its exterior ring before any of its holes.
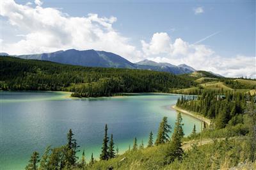
{"type": "Polygon", "coordinates": [[[35,8],[15,1],[1,3],[1,15],[22,32],[20,40],[4,43],[3,51],[10,54],[35,54],[65,49],[107,50],[127,59],[140,58],[141,52],[129,44],[129,38],[113,29],[116,17],[71,17],[56,8],[35,8]]]}

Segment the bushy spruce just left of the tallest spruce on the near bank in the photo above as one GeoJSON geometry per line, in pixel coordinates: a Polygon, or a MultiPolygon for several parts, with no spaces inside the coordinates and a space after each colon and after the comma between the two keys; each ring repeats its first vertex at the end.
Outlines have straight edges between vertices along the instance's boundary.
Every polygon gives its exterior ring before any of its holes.
{"type": "Polygon", "coordinates": [[[157,138],[155,144],[163,144],[169,141],[168,133],[171,132],[171,126],[168,125],[167,117],[164,116],[163,120],[161,121],[157,133],[157,138]]]}

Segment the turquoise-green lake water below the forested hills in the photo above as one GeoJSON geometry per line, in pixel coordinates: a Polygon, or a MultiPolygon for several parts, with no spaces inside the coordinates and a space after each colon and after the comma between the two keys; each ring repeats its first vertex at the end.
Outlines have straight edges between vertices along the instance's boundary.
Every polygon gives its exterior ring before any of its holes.
{"type": "MultiPolygon", "coordinates": [[[[0,169],[24,169],[33,151],[40,155],[47,145],[66,143],[72,128],[86,158],[99,157],[104,125],[120,153],[137,137],[147,144],[152,130],[156,137],[159,122],[168,117],[174,125],[177,112],[170,109],[179,95],[142,94],[127,97],[90,99],[67,98],[60,92],[0,92],[0,169]]],[[[184,132],[191,133],[200,121],[182,114],[184,132]]],[[[79,153],[81,155],[81,153],[79,153]]]]}

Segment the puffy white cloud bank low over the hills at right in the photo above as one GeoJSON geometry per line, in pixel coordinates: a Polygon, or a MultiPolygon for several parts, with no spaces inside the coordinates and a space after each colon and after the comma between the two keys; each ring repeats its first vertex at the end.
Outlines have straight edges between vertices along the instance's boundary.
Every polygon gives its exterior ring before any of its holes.
{"type": "MultiPolygon", "coordinates": [[[[152,40],[155,35],[159,35],[159,33],[154,34],[152,40]]],[[[162,35],[165,35],[170,40],[170,36],[167,34],[162,33],[162,35]]],[[[181,38],[177,38],[173,43],[161,41],[161,47],[166,47],[164,48],[165,53],[161,54],[160,50],[151,50],[159,49],[158,45],[154,47],[155,43],[152,43],[152,40],[148,43],[141,41],[141,45],[144,47],[143,52],[150,60],[174,65],[186,63],[196,70],[208,70],[227,77],[247,76],[256,78],[255,56],[223,57],[205,45],[191,44],[181,38]]]]}

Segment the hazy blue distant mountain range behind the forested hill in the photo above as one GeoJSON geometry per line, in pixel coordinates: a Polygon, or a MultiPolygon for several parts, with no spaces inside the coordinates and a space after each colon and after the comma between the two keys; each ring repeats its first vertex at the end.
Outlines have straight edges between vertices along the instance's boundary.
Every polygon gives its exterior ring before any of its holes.
{"type": "MultiPolygon", "coordinates": [[[[6,53],[0,53],[0,56],[7,56],[6,53]]],[[[125,58],[118,56],[112,52],[99,50],[60,50],[56,52],[20,55],[15,56],[23,59],[38,59],[45,61],[53,61],[56,63],[79,65],[79,66],[97,66],[97,67],[113,67],[113,68],[133,68],[143,70],[154,70],[159,72],[170,72],[173,74],[192,73],[196,70],[188,65],[171,65],[170,63],[156,63],[145,59],[138,63],[131,63],[125,58]]]]}

